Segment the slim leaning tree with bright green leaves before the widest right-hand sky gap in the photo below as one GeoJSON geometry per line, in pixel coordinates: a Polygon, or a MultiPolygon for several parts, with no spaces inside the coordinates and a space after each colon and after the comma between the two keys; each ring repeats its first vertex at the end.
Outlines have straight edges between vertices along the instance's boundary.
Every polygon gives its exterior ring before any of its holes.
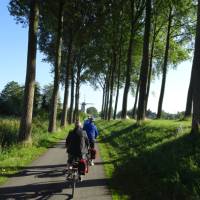
{"type": "Polygon", "coordinates": [[[176,65],[189,57],[189,51],[185,44],[189,42],[192,35],[191,28],[188,27],[193,23],[191,1],[185,0],[184,3],[183,1],[172,1],[166,6],[169,13],[157,118],[161,117],[168,66],[172,63],[176,65]]]}

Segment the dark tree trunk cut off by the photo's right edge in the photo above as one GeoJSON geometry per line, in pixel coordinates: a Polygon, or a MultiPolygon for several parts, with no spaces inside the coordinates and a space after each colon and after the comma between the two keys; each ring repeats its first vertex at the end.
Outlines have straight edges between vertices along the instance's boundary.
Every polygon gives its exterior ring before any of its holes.
{"type": "Polygon", "coordinates": [[[193,114],[192,114],[192,134],[200,134],[200,0],[198,0],[197,11],[197,26],[196,26],[196,38],[195,49],[193,58],[193,70],[192,73],[192,97],[193,97],[193,114]]]}

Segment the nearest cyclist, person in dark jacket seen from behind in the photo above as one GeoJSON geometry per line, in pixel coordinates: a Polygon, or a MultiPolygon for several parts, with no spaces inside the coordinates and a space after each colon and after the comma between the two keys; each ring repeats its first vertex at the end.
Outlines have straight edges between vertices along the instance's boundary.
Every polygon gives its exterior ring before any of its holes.
{"type": "Polygon", "coordinates": [[[89,140],[80,121],[75,122],[75,128],[69,132],[65,146],[68,153],[68,164],[72,164],[73,161],[87,159],[89,140]]]}

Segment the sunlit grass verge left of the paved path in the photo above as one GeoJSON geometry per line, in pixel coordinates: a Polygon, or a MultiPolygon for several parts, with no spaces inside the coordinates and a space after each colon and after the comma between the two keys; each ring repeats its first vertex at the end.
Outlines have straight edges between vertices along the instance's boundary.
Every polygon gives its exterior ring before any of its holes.
{"type": "Polygon", "coordinates": [[[32,130],[33,145],[24,147],[16,143],[18,127],[17,118],[0,118],[0,184],[65,138],[71,128],[50,134],[47,132],[48,122],[39,117],[35,118],[32,130]]]}

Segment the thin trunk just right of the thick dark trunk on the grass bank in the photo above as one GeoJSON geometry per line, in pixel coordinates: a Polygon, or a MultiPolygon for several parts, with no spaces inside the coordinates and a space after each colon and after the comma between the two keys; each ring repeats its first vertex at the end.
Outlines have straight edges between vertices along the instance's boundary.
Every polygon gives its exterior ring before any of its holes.
{"type": "Polygon", "coordinates": [[[150,91],[150,86],[151,86],[151,75],[152,75],[152,67],[153,67],[153,54],[154,54],[155,40],[156,40],[156,24],[154,26],[153,39],[152,39],[152,43],[151,43],[151,54],[150,54],[149,72],[148,72],[148,81],[147,81],[145,112],[147,111],[147,105],[148,105],[148,99],[149,99],[149,91],[150,91]]]}

